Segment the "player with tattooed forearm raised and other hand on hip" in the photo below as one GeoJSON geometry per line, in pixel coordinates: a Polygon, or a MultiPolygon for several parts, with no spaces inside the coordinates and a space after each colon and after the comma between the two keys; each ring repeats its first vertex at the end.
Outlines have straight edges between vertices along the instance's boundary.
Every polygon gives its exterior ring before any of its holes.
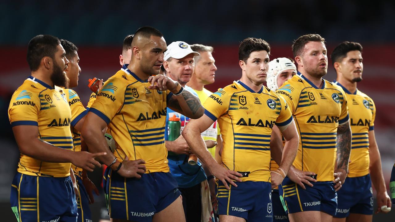
{"type": "Polygon", "coordinates": [[[117,152],[99,158],[111,168],[107,193],[114,221],[185,221],[181,193],[167,165],[166,107],[195,119],[203,107],[178,82],[157,75],[165,51],[162,33],[139,28],[130,64],[106,81],[83,125],[89,149],[108,150],[102,136],[107,125],[117,142],[117,152]]]}

